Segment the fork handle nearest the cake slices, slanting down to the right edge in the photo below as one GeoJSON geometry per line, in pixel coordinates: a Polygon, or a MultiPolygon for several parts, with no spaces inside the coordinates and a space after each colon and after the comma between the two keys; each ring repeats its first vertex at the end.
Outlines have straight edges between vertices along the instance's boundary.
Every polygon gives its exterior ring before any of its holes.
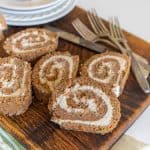
{"type": "Polygon", "coordinates": [[[147,79],[144,77],[138,62],[132,53],[132,50],[129,47],[127,50],[123,48],[115,39],[112,39],[112,40],[119,47],[122,53],[127,53],[131,57],[131,61],[132,61],[131,67],[132,67],[132,71],[136,77],[137,82],[139,83],[140,87],[145,93],[150,93],[150,85],[147,79]]]}

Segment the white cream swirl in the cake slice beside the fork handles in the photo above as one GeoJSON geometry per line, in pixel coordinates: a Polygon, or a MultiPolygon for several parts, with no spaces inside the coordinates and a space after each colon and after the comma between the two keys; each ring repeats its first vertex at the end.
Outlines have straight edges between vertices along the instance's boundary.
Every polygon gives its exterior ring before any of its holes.
{"type": "Polygon", "coordinates": [[[100,68],[99,68],[100,69],[99,71],[101,71],[101,72],[103,71],[104,67],[109,68],[109,70],[107,72],[108,75],[106,76],[105,79],[101,79],[100,77],[96,77],[94,75],[94,72],[92,71],[92,68],[93,68],[93,66],[95,66],[96,63],[99,63],[100,61],[103,61],[105,59],[114,59],[119,63],[120,69],[118,70],[117,80],[115,81],[115,83],[113,85],[114,88],[112,89],[113,92],[117,96],[119,96],[119,94],[120,94],[120,85],[119,85],[119,83],[120,83],[120,80],[121,80],[121,77],[122,77],[122,72],[126,69],[126,65],[127,65],[127,62],[124,58],[118,57],[118,56],[113,56],[113,55],[112,56],[110,56],[110,55],[109,56],[102,56],[102,57],[96,58],[88,66],[88,76],[91,79],[93,79],[93,80],[95,80],[99,83],[108,84],[111,81],[111,79],[116,75],[116,73],[112,69],[112,65],[113,65],[112,61],[102,62],[102,66],[100,66],[100,68]]]}

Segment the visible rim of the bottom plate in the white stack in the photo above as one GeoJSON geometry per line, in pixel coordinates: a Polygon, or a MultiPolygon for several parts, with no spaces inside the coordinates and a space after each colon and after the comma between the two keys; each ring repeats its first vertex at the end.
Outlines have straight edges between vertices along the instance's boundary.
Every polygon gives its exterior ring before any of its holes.
{"type": "Polygon", "coordinates": [[[64,10],[62,10],[59,13],[56,13],[55,15],[53,15],[51,17],[47,17],[46,19],[38,19],[35,21],[30,21],[30,22],[7,20],[7,23],[9,25],[12,25],[12,26],[33,26],[33,25],[41,25],[41,24],[55,21],[57,19],[64,17],[66,14],[68,14],[75,7],[76,0],[68,0],[68,1],[69,1],[69,5],[67,8],[65,8],[64,10]]]}

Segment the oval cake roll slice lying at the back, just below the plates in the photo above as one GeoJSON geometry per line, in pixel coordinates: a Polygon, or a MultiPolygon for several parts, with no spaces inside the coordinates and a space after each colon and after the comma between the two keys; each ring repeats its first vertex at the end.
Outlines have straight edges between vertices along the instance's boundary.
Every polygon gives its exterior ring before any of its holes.
{"type": "Polygon", "coordinates": [[[56,33],[41,28],[28,28],[8,37],[3,47],[8,55],[31,62],[54,51],[57,45],[56,33]]]}

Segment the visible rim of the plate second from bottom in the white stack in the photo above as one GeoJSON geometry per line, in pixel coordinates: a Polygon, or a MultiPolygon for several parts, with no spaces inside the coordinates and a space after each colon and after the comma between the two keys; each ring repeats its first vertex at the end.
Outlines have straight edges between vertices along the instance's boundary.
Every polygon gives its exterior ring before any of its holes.
{"type": "Polygon", "coordinates": [[[5,14],[6,20],[11,20],[11,21],[36,21],[39,19],[47,19],[50,17],[53,17],[56,14],[61,13],[64,11],[68,6],[70,5],[71,0],[65,0],[64,3],[59,5],[58,7],[54,9],[50,9],[49,11],[43,12],[43,13],[37,13],[37,14],[31,14],[31,15],[14,15],[14,14],[5,14]]]}

